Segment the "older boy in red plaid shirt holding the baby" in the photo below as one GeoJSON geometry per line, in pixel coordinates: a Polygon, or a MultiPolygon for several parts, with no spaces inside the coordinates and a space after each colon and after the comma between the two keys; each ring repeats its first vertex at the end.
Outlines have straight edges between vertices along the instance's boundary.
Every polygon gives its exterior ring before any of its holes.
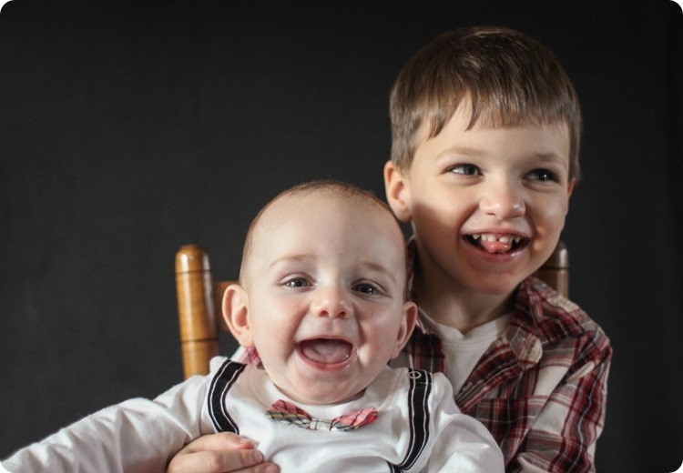
{"type": "MultiPolygon", "coordinates": [[[[507,471],[594,470],[609,340],[530,277],[556,247],[579,177],[574,86],[534,39],[465,28],[408,61],[391,115],[385,186],[394,213],[413,225],[421,309],[396,362],[444,371],[458,406],[493,433],[507,471]]],[[[199,471],[253,466],[231,441],[199,438],[169,471],[207,458],[229,468],[199,471]]]]}

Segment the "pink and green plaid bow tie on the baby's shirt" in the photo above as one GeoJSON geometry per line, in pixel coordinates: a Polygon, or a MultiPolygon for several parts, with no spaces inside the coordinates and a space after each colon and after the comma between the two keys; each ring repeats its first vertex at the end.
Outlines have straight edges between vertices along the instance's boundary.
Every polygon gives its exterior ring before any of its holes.
{"type": "Polygon", "coordinates": [[[338,418],[324,420],[321,418],[311,418],[311,415],[305,410],[280,399],[268,408],[266,415],[273,420],[279,420],[285,424],[294,424],[301,428],[346,431],[355,430],[374,422],[377,418],[377,409],[365,408],[339,416],[338,418]]]}

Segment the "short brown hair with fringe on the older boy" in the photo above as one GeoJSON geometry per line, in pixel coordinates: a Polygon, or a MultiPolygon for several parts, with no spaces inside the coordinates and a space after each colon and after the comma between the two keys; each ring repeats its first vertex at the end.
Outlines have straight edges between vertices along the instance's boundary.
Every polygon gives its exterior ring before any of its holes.
{"type": "Polygon", "coordinates": [[[463,99],[477,120],[494,126],[569,127],[569,178],[578,164],[581,109],[576,90],[553,52],[534,38],[498,26],[460,28],[437,36],[403,66],[392,88],[392,161],[412,165],[416,134],[439,134],[463,99]]]}

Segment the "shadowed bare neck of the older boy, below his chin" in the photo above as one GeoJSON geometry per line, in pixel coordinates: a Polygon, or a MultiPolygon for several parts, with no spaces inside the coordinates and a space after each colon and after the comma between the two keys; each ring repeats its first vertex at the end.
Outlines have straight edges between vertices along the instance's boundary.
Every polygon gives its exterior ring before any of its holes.
{"type": "Polygon", "coordinates": [[[418,306],[433,319],[467,333],[510,310],[512,294],[491,295],[443,287],[437,281],[425,281],[418,272],[413,282],[418,306]]]}

